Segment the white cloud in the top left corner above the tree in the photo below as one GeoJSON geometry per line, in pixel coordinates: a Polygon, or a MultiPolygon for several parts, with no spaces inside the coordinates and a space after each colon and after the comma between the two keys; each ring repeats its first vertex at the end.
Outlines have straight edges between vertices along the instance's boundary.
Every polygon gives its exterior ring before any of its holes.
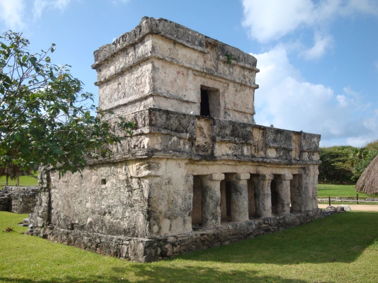
{"type": "Polygon", "coordinates": [[[25,6],[24,0],[0,0],[0,20],[5,22],[8,29],[14,31],[24,29],[25,6]]]}

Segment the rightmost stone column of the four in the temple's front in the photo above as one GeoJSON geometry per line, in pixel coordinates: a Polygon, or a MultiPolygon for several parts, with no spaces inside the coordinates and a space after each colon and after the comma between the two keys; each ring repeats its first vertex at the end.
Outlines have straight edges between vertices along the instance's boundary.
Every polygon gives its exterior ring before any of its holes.
{"type": "Polygon", "coordinates": [[[278,175],[276,180],[277,188],[277,214],[290,214],[290,180],[292,174],[278,175]]]}

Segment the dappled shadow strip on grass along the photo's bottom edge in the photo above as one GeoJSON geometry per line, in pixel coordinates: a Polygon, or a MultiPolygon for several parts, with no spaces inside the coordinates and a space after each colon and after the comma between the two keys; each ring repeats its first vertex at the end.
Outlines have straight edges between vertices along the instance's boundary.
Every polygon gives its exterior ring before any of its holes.
{"type": "MultiPolygon", "coordinates": [[[[286,279],[280,276],[259,275],[258,271],[222,271],[204,267],[163,267],[151,269],[146,264],[135,264],[131,268],[113,268],[112,276],[95,276],[91,279],[82,279],[74,276],[62,278],[52,278],[49,280],[38,280],[38,282],[130,282],[127,277],[132,273],[133,282],[279,282],[279,283],[306,283],[307,281],[298,279],[286,279]],[[132,271],[130,271],[132,270],[132,271]]],[[[7,282],[37,282],[28,279],[2,278],[7,282]]]]}

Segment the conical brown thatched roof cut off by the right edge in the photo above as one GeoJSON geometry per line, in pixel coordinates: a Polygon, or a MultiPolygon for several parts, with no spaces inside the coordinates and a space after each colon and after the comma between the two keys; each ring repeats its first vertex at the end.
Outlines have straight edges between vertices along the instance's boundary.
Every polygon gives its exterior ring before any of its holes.
{"type": "Polygon", "coordinates": [[[355,190],[365,194],[378,194],[378,156],[370,162],[361,174],[360,179],[355,184],[355,190]]]}

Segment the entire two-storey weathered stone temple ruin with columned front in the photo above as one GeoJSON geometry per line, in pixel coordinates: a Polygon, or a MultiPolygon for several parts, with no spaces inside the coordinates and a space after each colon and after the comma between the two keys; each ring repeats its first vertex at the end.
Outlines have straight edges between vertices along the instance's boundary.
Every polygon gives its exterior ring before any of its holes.
{"type": "Polygon", "coordinates": [[[94,56],[99,107],[136,127],[82,177],[43,169],[29,234],[147,262],[322,217],[320,135],[255,124],[256,58],[148,17],[94,56]]]}

